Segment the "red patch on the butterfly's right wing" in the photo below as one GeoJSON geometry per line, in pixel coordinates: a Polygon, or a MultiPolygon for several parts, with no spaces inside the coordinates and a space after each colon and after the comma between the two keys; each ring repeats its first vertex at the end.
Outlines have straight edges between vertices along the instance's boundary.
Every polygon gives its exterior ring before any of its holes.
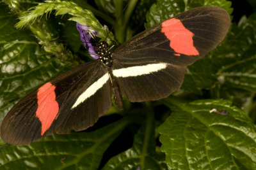
{"type": "Polygon", "coordinates": [[[193,45],[193,32],[184,27],[177,18],[171,18],[162,23],[161,32],[170,40],[170,47],[177,53],[185,55],[199,55],[193,45]]]}

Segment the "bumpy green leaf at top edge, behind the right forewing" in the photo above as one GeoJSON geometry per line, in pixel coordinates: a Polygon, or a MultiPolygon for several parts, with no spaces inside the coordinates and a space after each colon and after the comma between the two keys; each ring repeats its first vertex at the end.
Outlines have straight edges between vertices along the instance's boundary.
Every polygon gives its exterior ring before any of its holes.
{"type": "Polygon", "coordinates": [[[231,2],[226,0],[195,0],[195,1],[184,1],[184,0],[157,0],[156,4],[153,4],[150,11],[147,13],[147,23],[145,27],[152,27],[159,22],[163,22],[168,18],[174,17],[183,11],[190,10],[199,6],[219,6],[228,13],[232,13],[231,2]]]}

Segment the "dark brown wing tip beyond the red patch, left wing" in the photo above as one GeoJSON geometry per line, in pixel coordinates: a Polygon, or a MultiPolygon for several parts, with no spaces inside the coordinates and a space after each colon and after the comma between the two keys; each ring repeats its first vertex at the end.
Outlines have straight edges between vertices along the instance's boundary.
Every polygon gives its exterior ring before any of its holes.
{"type": "Polygon", "coordinates": [[[1,124],[1,138],[11,144],[28,144],[34,139],[41,139],[40,120],[35,118],[36,108],[36,92],[32,92],[13,106],[4,117],[1,124]]]}

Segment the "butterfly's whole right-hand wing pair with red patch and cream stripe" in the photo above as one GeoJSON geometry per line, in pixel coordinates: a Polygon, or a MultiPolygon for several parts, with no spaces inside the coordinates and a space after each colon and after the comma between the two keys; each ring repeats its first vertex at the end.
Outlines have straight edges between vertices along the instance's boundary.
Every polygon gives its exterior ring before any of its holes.
{"type": "Polygon", "coordinates": [[[230,16],[213,6],[194,8],[133,38],[113,52],[113,74],[129,101],[153,101],[182,85],[186,66],[214,49],[230,16]]]}

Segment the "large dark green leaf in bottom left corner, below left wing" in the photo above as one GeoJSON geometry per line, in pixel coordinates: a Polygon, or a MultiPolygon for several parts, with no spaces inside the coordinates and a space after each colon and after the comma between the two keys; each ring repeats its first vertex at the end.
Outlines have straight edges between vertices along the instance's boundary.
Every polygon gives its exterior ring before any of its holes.
{"type": "Polygon", "coordinates": [[[93,132],[48,136],[29,146],[1,148],[0,169],[97,169],[113,140],[138,117],[125,117],[93,132]]]}

